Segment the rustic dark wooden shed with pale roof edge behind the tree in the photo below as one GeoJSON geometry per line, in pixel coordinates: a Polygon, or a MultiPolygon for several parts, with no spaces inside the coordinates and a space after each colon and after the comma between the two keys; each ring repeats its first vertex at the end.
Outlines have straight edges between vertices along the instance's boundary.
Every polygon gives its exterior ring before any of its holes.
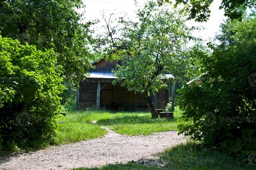
{"type": "MultiPolygon", "coordinates": [[[[90,75],[79,84],[77,90],[78,108],[147,110],[146,103],[138,94],[118,84],[112,84],[116,77],[111,73],[111,69],[115,68],[117,64],[121,64],[121,61],[102,59],[93,63],[95,69],[89,70],[90,75]]],[[[169,101],[169,91],[167,89],[159,90],[154,98],[156,108],[164,109],[169,101]]]]}

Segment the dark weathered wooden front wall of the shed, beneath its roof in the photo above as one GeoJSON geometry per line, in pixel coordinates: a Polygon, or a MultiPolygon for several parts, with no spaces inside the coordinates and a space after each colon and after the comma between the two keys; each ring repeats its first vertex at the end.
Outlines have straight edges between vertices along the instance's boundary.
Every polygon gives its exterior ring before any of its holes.
{"type": "MultiPolygon", "coordinates": [[[[79,107],[91,108],[97,104],[97,79],[80,83],[79,107]]],[[[98,79],[98,81],[100,81],[98,79]]],[[[111,83],[102,83],[100,91],[100,107],[110,109],[124,108],[125,110],[147,110],[146,103],[133,91],[111,83]]],[[[157,108],[164,109],[168,102],[167,90],[157,93],[157,108]]]]}

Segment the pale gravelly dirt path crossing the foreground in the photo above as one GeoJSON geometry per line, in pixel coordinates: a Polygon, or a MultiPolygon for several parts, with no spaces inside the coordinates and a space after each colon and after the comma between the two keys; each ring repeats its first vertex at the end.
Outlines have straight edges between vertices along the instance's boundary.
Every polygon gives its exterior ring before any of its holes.
{"type": "Polygon", "coordinates": [[[107,128],[105,136],[79,143],[52,146],[45,150],[12,157],[0,157],[0,168],[50,169],[95,167],[115,162],[156,158],[165,148],[185,141],[177,132],[160,132],[151,136],[125,136],[107,128]]]}

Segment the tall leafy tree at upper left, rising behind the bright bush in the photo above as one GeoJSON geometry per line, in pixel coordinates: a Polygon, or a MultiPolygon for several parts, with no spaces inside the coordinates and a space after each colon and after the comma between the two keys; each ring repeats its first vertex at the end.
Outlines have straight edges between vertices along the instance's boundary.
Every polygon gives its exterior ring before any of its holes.
{"type": "Polygon", "coordinates": [[[0,34],[38,49],[53,48],[64,80],[79,82],[90,67],[92,54],[87,46],[93,23],[83,24],[83,15],[76,9],[84,9],[81,0],[1,1],[0,34]]]}

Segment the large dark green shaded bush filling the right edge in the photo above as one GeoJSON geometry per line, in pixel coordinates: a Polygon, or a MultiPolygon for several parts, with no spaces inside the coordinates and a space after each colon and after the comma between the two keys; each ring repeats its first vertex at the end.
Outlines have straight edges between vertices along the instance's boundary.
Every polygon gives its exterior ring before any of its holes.
{"type": "Polygon", "coordinates": [[[247,161],[256,154],[256,22],[226,22],[203,58],[207,74],[200,84],[184,86],[179,105],[185,111],[178,128],[193,139],[219,146],[247,161]]]}

